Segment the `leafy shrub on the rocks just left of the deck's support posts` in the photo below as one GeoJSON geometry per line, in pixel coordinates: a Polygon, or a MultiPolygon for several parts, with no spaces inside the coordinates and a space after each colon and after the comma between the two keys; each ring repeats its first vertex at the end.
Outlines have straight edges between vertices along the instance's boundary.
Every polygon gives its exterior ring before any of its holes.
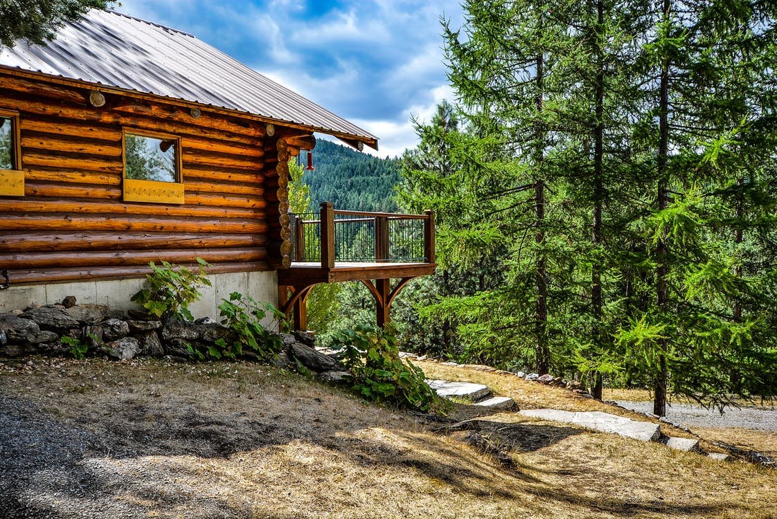
{"type": "Polygon", "coordinates": [[[235,343],[227,344],[224,340],[218,340],[218,348],[210,347],[208,354],[211,357],[235,358],[244,351],[253,351],[259,357],[270,357],[277,354],[283,343],[277,333],[262,326],[261,320],[267,316],[267,312],[279,323],[280,331],[287,329],[286,316],[270,303],[257,302],[251,296],[232,292],[229,300],[222,299],[218,305],[221,324],[231,329],[238,336],[235,343]]]}

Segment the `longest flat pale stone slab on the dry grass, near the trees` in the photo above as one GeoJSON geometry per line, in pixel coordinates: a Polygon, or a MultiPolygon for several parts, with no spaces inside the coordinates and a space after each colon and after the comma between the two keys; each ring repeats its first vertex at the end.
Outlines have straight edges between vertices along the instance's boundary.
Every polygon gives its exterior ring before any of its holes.
{"type": "Polygon", "coordinates": [[[657,423],[637,422],[623,416],[602,413],[601,411],[573,413],[572,411],[559,411],[558,409],[524,409],[520,413],[523,416],[530,416],[531,418],[539,418],[541,420],[573,423],[586,429],[618,434],[619,436],[639,441],[657,441],[661,435],[661,430],[657,423]]]}

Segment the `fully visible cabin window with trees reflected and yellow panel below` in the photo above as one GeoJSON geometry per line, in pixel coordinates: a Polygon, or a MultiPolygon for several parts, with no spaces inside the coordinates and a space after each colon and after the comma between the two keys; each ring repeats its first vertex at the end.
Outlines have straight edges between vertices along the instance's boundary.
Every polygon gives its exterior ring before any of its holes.
{"type": "Polygon", "coordinates": [[[124,200],[183,204],[180,139],[124,131],[124,200]]]}

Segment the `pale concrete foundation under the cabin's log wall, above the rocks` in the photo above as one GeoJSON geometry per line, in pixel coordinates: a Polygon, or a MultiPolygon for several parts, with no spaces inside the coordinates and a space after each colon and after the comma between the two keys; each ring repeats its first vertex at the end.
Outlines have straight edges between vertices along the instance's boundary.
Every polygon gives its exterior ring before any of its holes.
{"type": "MultiPolygon", "coordinates": [[[[212,287],[200,288],[202,298],[190,306],[195,319],[210,317],[218,321],[218,305],[232,292],[250,295],[256,301],[278,305],[277,272],[235,272],[212,274],[212,287]]],[[[68,295],[78,304],[92,303],[110,308],[139,308],[130,298],[145,287],[145,277],[125,280],[89,280],[68,283],[11,286],[0,291],[0,312],[10,312],[30,305],[61,303],[68,295]]],[[[269,321],[270,319],[268,319],[269,321]]]]}

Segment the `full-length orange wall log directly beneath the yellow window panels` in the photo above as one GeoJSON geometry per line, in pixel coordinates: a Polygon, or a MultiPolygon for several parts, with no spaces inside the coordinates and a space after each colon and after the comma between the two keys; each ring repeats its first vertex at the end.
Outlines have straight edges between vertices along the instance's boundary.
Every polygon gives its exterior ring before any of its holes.
{"type": "MultiPolygon", "coordinates": [[[[61,188],[59,188],[61,189],[61,188]]],[[[206,207],[172,204],[132,204],[119,202],[86,202],[79,200],[9,200],[0,198],[0,214],[70,213],[70,214],[140,214],[183,218],[263,218],[260,207],[206,207]]],[[[2,218],[2,217],[0,217],[2,218]]],[[[114,216],[113,218],[120,218],[114,216]]]]}

